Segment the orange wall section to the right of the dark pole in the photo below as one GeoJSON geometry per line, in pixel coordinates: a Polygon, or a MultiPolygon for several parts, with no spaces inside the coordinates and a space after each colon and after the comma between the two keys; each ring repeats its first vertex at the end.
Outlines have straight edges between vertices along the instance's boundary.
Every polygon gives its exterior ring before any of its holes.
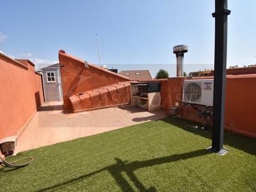
{"type": "Polygon", "coordinates": [[[256,137],[256,74],[227,80],[225,127],[256,137]]]}

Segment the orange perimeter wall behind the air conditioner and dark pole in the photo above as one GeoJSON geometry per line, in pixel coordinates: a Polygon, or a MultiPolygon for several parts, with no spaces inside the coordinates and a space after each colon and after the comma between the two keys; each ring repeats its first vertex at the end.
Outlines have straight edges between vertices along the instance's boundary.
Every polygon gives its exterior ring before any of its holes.
{"type": "MultiPolygon", "coordinates": [[[[205,79],[213,78],[207,77],[205,79]]],[[[168,108],[180,105],[180,116],[195,122],[202,122],[197,111],[182,104],[182,86],[185,78],[169,78],[162,81],[162,106],[168,108]]],[[[198,78],[186,78],[198,79],[198,78]]],[[[202,78],[200,78],[202,79],[202,78]]],[[[227,75],[225,129],[256,137],[256,75],[227,75]]]]}

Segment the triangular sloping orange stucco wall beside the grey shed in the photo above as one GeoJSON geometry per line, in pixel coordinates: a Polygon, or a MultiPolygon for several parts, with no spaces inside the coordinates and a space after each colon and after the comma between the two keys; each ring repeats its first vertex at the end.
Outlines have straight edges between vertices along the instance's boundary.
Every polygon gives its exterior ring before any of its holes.
{"type": "MultiPolygon", "coordinates": [[[[70,103],[70,97],[75,94],[130,80],[91,63],[88,63],[89,68],[86,68],[85,61],[68,55],[63,50],[58,53],[58,58],[61,66],[64,110],[75,110],[70,103]]],[[[76,104],[76,109],[81,110],[81,107],[76,104]]]]}

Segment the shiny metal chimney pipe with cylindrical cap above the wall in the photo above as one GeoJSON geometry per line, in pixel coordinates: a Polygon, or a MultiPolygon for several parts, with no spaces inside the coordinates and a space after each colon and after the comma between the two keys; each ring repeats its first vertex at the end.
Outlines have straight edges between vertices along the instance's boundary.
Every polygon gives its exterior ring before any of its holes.
{"type": "Polygon", "coordinates": [[[176,54],[177,60],[176,76],[183,76],[183,59],[186,52],[188,52],[188,46],[186,45],[176,45],[173,47],[173,53],[176,54]]]}

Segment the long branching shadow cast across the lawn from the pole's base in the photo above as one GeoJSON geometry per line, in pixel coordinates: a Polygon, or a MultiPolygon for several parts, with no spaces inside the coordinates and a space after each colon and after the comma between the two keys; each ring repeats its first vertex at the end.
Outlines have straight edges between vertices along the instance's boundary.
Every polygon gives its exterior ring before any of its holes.
{"type": "MultiPolygon", "coordinates": [[[[57,190],[57,188],[65,187],[66,185],[71,185],[73,183],[79,182],[85,178],[88,178],[89,176],[96,175],[97,173],[100,173],[101,171],[108,171],[111,176],[114,177],[114,180],[116,181],[117,185],[120,186],[122,191],[135,191],[132,186],[130,186],[129,182],[124,178],[122,175],[122,172],[126,173],[127,176],[129,176],[130,180],[132,181],[133,185],[137,190],[139,191],[157,191],[157,189],[150,187],[146,188],[142,182],[137,178],[134,171],[138,170],[139,168],[145,168],[145,167],[152,167],[154,165],[161,165],[163,163],[171,163],[176,162],[179,160],[186,160],[188,158],[194,158],[194,157],[200,157],[202,155],[209,154],[209,151],[206,149],[196,150],[193,152],[188,153],[182,153],[182,154],[175,154],[170,155],[166,157],[160,157],[160,158],[153,158],[149,160],[144,161],[135,161],[127,163],[127,161],[122,161],[119,158],[115,158],[116,163],[109,165],[107,167],[104,167],[100,170],[93,171],[91,173],[88,173],[86,175],[79,176],[77,178],[74,178],[72,180],[65,181],[63,183],[59,183],[57,185],[48,186],[47,188],[43,188],[39,191],[51,191],[51,190],[57,190]]],[[[136,190],[136,191],[137,191],[136,190]]]]}

